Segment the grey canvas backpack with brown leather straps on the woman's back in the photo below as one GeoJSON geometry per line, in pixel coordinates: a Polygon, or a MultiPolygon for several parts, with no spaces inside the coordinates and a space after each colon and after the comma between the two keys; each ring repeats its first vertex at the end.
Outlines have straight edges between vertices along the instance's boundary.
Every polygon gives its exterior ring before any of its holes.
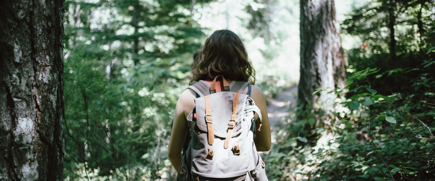
{"type": "Polygon", "coordinates": [[[191,141],[183,154],[177,181],[268,181],[265,164],[254,144],[261,112],[249,95],[249,82],[216,76],[211,86],[189,86],[197,94],[187,116],[191,141]],[[217,80],[221,79],[223,85],[217,80]],[[223,86],[224,91],[221,91],[223,86]],[[243,94],[248,87],[248,94],[243,94]],[[256,128],[254,112],[258,114],[256,128]]]}

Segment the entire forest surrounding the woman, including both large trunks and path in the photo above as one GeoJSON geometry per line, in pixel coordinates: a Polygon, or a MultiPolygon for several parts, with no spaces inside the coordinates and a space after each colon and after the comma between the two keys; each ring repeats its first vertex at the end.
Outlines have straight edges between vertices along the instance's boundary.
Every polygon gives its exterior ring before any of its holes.
{"type": "Polygon", "coordinates": [[[269,180],[435,179],[433,0],[17,0],[0,17],[0,180],[175,180],[175,105],[222,29],[274,120],[269,180]]]}

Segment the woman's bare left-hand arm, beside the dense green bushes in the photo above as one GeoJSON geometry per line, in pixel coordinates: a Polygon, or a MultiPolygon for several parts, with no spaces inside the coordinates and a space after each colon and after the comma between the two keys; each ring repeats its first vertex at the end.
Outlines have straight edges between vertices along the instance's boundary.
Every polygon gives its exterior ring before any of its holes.
{"type": "Polygon", "coordinates": [[[187,114],[194,107],[194,93],[186,89],[181,93],[175,106],[174,122],[172,125],[171,138],[169,139],[168,156],[175,170],[181,165],[181,151],[188,132],[187,114]]]}

